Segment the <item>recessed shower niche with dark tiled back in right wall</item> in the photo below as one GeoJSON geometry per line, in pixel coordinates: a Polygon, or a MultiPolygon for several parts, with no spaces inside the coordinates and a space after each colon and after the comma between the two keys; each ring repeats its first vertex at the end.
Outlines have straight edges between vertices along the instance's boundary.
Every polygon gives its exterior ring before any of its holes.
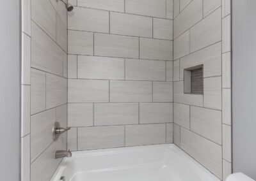
{"type": "Polygon", "coordinates": [[[184,93],[204,94],[204,65],[184,69],[184,93]]]}

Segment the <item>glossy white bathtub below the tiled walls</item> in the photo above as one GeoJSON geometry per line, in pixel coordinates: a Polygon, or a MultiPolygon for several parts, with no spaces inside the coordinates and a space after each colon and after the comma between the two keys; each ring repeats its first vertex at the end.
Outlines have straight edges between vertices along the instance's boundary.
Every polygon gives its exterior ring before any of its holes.
{"type": "Polygon", "coordinates": [[[72,154],[51,181],[220,181],[173,144],[72,154]]]}

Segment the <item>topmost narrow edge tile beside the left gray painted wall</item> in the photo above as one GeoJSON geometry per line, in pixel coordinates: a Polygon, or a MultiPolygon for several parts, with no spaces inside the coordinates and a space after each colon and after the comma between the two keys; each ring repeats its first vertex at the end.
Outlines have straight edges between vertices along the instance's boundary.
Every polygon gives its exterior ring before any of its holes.
{"type": "MultiPolygon", "coordinates": [[[[31,1],[21,1],[21,20],[22,20],[22,32],[31,35],[31,1]]],[[[22,180],[23,181],[23,180],[22,180]]]]}

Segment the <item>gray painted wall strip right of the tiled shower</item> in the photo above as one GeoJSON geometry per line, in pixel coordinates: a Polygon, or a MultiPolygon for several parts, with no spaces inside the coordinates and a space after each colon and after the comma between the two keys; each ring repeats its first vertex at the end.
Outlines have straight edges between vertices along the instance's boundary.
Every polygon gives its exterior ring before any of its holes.
{"type": "Polygon", "coordinates": [[[233,1],[233,169],[256,179],[256,1],[233,1]]]}

